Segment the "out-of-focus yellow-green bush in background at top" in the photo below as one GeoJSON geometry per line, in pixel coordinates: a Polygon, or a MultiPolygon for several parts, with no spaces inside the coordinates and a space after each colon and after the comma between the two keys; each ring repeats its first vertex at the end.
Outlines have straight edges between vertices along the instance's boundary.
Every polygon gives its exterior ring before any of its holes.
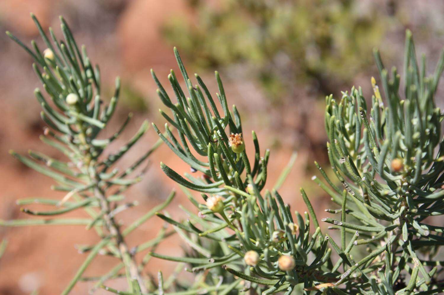
{"type": "Polygon", "coordinates": [[[349,83],[372,64],[393,12],[372,1],[186,1],[193,17],[170,19],[166,39],[198,68],[242,64],[272,101],[306,83],[322,95],[349,83]]]}

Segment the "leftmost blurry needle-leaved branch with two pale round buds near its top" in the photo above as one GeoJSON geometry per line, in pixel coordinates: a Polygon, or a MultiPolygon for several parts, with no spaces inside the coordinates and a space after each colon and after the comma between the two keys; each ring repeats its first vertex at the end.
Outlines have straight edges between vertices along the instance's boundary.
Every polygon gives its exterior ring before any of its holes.
{"type": "Polygon", "coordinates": [[[26,166],[54,179],[57,185],[52,186],[53,190],[64,192],[65,196],[59,200],[19,199],[18,205],[45,204],[55,208],[49,211],[35,211],[24,207],[21,208],[23,213],[46,218],[1,220],[0,225],[83,225],[87,230],[94,229],[97,232],[100,238],[98,243],[79,248],[79,252],[88,254],[87,258],[63,294],[69,293],[79,280],[97,281],[91,290],[93,291],[104,281],[122,276],[119,273],[122,268],[125,269],[124,276],[127,277],[129,290],[147,293],[149,288],[141,272],[150,256],[145,256],[141,262],[137,262],[135,255],[148,248],[155,248],[163,237],[170,233],[162,230],[158,237],[134,248],[130,248],[127,244],[127,236],[154,216],[157,210],[161,210],[170,203],[174,192],[163,204],[156,206],[124,229],[116,221],[115,216],[137,205],[137,201],[123,202],[123,192],[141,180],[146,169],[138,168],[162,142],[159,140],[125,170],[113,169],[119,159],[147,131],[148,122],[145,121],[142,124],[127,144],[115,152],[109,151],[108,147],[111,142],[120,136],[132,117],[132,114],[129,114],[122,126],[111,137],[100,138],[100,132],[107,127],[115,113],[119,100],[119,78],[116,79],[114,96],[111,97],[108,105],[103,106],[99,67],[92,65],[85,47],[81,50],[77,47],[65,20],[60,18],[64,40],[57,39],[52,29],[49,29],[52,43],[36,17],[32,15],[32,19],[48,47],[43,52],[35,41],[32,41],[32,50],[10,32],[7,32],[7,35],[32,56],[35,62],[32,65],[33,69],[52,102],[48,102],[40,89],[34,91],[43,109],[42,120],[48,125],[40,139],[44,144],[48,144],[58,150],[61,155],[63,154],[66,160],[53,159],[37,151],[29,151],[29,157],[19,155],[15,151],[11,151],[11,154],[26,166]],[[90,217],[56,218],[58,215],[77,209],[85,210],[90,217]],[[116,266],[111,270],[105,270],[104,274],[96,278],[84,277],[83,272],[98,254],[115,257],[118,260],[116,266]]]}

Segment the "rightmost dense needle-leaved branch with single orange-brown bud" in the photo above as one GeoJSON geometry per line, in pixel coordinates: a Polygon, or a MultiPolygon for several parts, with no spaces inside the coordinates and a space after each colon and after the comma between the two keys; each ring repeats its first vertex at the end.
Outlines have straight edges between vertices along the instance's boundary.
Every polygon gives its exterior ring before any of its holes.
{"type": "Polygon", "coordinates": [[[444,116],[436,107],[435,94],[444,51],[435,73],[427,76],[426,58],[418,65],[407,31],[402,82],[396,68],[389,75],[378,50],[374,56],[385,104],[375,78],[370,108],[361,88],[342,93],[340,101],[326,98],[330,164],[345,190],[319,166],[330,188],[315,181],[341,206],[329,210],[341,212],[341,218],[323,219],[341,229],[341,248],[333,247],[345,267],[339,282],[348,280],[348,290],[370,294],[440,293],[443,268],[435,256],[444,241],[444,227],[436,226],[442,225],[439,216],[444,213],[444,116]],[[363,238],[353,236],[346,243],[347,233],[354,231],[363,238]],[[369,252],[357,264],[348,256],[356,245],[365,245],[369,252]],[[353,274],[359,274],[361,282],[351,279],[353,274]]]}

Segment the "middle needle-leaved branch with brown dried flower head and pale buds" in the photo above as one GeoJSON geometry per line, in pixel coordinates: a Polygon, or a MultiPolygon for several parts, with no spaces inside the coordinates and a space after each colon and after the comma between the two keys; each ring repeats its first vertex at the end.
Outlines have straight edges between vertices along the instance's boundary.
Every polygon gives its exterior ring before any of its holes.
{"type": "MultiPolygon", "coordinates": [[[[202,173],[201,179],[190,174],[185,174],[185,179],[161,163],[166,175],[186,188],[185,192],[199,212],[187,212],[190,219],[185,223],[174,221],[161,213],[158,216],[174,225],[187,244],[206,257],[193,260],[196,266],[192,270],[209,270],[214,277],[218,276],[218,268],[222,267],[237,277],[233,283],[224,287],[223,294],[234,288],[243,289],[244,286],[236,287],[241,279],[250,282],[248,287],[259,294],[279,291],[290,294],[299,283],[310,289],[317,282],[335,282],[337,279],[332,272],[331,249],[327,247],[329,236],[321,233],[313,206],[304,190],[301,189],[301,194],[310,214],[305,212],[302,216],[296,212],[294,220],[289,206],[276,190],[289,168],[283,172],[276,189],[261,193],[267,180],[270,151],[266,150],[261,156],[258,139],[253,131],[255,152],[254,160],[250,162],[242,138],[240,115],[235,106],[230,113],[218,72],[215,73],[219,88],[216,97],[221,111],[197,74],[195,78],[198,85],[191,84],[176,49],[174,54],[189,98],[185,96],[173,70],[168,79],[177,103],[171,101],[155,73],[151,73],[159,87],[158,95],[170,108],[172,117],[162,110],[160,112],[177,129],[179,139],[168,128],[166,132],[169,139],[163,136],[155,124],[153,127],[165,144],[190,165],[192,172],[202,173]],[[206,156],[206,160],[197,158],[201,156],[206,156]],[[199,203],[187,189],[201,192],[205,204],[199,203]],[[310,232],[310,223],[314,225],[314,232],[310,232]],[[205,246],[208,243],[219,245],[209,248],[205,246]],[[215,251],[208,251],[208,248],[215,251]]],[[[188,258],[155,253],[151,255],[190,262],[188,258]]]]}

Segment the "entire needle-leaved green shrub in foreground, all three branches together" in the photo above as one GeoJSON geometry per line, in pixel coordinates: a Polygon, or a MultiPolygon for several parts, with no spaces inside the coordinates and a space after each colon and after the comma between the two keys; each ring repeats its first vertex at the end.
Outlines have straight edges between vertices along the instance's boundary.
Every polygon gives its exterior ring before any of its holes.
{"type": "MultiPolygon", "coordinates": [[[[444,52],[435,74],[426,77],[425,58],[418,66],[412,36],[407,31],[404,99],[399,94],[400,75],[393,68],[389,77],[377,50],[374,55],[387,107],[374,78],[371,80],[374,95],[370,109],[361,88],[353,87],[350,93],[344,92],[339,102],[332,96],[326,98],[328,154],[333,172],[344,188],[340,189],[330,180],[316,162],[328,186],[317,177],[313,180],[337,205],[336,209],[326,211],[341,213],[335,219],[322,219],[332,224],[329,229],[339,230],[341,241],[337,243],[329,234],[322,233],[303,189],[301,196],[308,208],[308,213],[303,215],[297,211],[292,214],[277,192],[294,157],[274,189],[264,190],[270,151],[261,154],[253,131],[254,157],[250,161],[242,137],[240,114],[235,106],[230,111],[218,72],[215,73],[219,89],[215,95],[216,104],[197,74],[197,84],[192,84],[174,49],[189,97],[173,70],[168,79],[177,102],[171,101],[154,71],[151,73],[160,99],[171,112],[167,114],[161,110],[160,113],[176,128],[179,138],[168,124],[165,124],[165,134],[154,123],[153,127],[160,139],[190,166],[191,172],[201,175],[198,178],[185,174],[184,178],[161,163],[162,170],[181,185],[198,213],[186,210],[189,219],[184,222],[174,220],[166,212],[156,213],[173,226],[191,250],[182,257],[150,252],[138,264],[135,253],[154,248],[167,233],[161,231],[155,239],[131,250],[125,237],[155,211],[162,210],[174,192],[166,202],[121,230],[114,215],[135,204],[111,207],[111,202],[121,201],[121,193],[139,180],[139,177],[129,179],[127,176],[153,149],[123,173],[110,169],[139,140],[147,124],[144,123],[119,151],[101,156],[129,120],[111,138],[97,138],[114,113],[119,82],[110,104],[101,107],[99,70],[91,66],[84,48],[80,54],[64,20],[61,19],[65,41],[57,41],[50,30],[58,51],[34,20],[48,46],[43,54],[35,42],[32,51],[10,33],[8,35],[35,59],[34,70],[55,106],[49,106],[42,93],[36,90],[37,100],[44,109],[42,118],[51,128],[45,130],[42,140],[61,151],[69,162],[37,152],[30,152],[34,160],[15,152],[12,154],[25,165],[55,179],[59,186],[54,189],[69,193],[60,201],[24,199],[18,203],[40,202],[62,207],[53,211],[22,210],[32,215],[52,216],[83,208],[91,218],[24,219],[1,221],[0,225],[80,224],[87,225],[87,229],[95,228],[101,240],[82,248],[89,255],[63,294],[67,294],[79,279],[88,279],[82,277],[83,271],[98,253],[120,260],[110,272],[99,276],[96,284],[116,294],[160,295],[173,285],[174,291],[180,291],[168,293],[170,295],[216,291],[229,294],[248,290],[259,294],[280,291],[285,294],[309,294],[311,291],[323,294],[437,294],[444,291],[443,262],[435,259],[439,246],[444,243],[444,227],[433,225],[444,213],[444,143],[440,130],[444,115],[435,105],[436,89],[444,69],[444,52]],[[46,166],[36,161],[43,161],[46,166]],[[117,190],[111,192],[114,186],[117,190]],[[203,202],[194,198],[190,190],[200,192],[203,202]],[[310,231],[310,227],[314,231],[310,231]],[[332,256],[332,252],[335,255],[332,256]],[[140,270],[150,257],[190,265],[187,270],[198,273],[196,283],[182,285],[179,280],[174,283],[175,275],[164,282],[159,272],[158,286],[148,287],[140,270]],[[102,285],[105,280],[120,276],[119,269],[123,267],[128,292],[102,285]]],[[[4,243],[0,246],[0,255],[3,249],[4,243]]]]}

